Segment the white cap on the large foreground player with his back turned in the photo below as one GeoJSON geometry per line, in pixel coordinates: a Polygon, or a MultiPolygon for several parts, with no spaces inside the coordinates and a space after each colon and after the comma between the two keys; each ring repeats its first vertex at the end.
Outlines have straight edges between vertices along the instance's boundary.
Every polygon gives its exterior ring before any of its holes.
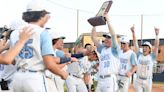
{"type": "Polygon", "coordinates": [[[32,0],[28,3],[26,11],[46,11],[47,13],[50,13],[48,12],[48,7],[44,0],[32,0]]]}

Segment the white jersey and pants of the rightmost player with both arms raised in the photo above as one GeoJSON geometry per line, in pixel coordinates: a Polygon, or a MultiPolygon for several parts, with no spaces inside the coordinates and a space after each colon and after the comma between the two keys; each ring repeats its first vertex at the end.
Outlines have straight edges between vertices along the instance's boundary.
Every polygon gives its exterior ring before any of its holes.
{"type": "Polygon", "coordinates": [[[152,92],[152,72],[153,64],[156,58],[155,53],[144,56],[143,53],[137,53],[137,79],[134,82],[135,92],[152,92]]]}

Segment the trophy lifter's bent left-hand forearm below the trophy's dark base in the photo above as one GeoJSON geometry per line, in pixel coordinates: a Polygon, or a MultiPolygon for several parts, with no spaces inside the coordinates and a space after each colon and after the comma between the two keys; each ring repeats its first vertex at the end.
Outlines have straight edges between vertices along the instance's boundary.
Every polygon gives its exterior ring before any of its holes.
{"type": "Polygon", "coordinates": [[[99,41],[97,40],[96,27],[93,27],[93,28],[92,28],[91,39],[92,39],[94,45],[98,48],[99,45],[100,45],[100,43],[99,43],[99,41]]]}

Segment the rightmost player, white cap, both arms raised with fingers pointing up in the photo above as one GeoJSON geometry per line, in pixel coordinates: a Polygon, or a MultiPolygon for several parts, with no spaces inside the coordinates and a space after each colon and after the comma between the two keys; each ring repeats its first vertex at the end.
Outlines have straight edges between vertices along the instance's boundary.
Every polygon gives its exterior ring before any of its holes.
{"type": "Polygon", "coordinates": [[[135,36],[134,26],[131,27],[132,35],[133,35],[133,43],[135,47],[135,52],[137,53],[137,78],[135,81],[135,92],[152,92],[152,72],[153,72],[153,64],[156,60],[158,54],[158,46],[159,46],[159,29],[154,28],[155,30],[155,43],[154,49],[152,50],[152,45],[146,41],[142,44],[143,53],[139,51],[138,43],[135,36]]]}

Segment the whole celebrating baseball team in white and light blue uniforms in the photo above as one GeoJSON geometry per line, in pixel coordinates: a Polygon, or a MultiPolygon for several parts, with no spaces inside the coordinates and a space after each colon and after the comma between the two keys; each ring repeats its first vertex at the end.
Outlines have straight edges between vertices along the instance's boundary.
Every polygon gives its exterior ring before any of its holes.
{"type": "Polygon", "coordinates": [[[22,20],[11,22],[10,37],[5,31],[0,39],[0,92],[129,92],[133,74],[134,92],[152,92],[159,28],[154,27],[154,46],[148,41],[139,46],[133,25],[131,49],[128,36],[117,38],[107,12],[103,16],[109,30],[103,42],[93,26],[94,45],[75,45],[68,53],[66,38],[45,28],[50,12],[44,4],[28,3],[22,20]]]}

